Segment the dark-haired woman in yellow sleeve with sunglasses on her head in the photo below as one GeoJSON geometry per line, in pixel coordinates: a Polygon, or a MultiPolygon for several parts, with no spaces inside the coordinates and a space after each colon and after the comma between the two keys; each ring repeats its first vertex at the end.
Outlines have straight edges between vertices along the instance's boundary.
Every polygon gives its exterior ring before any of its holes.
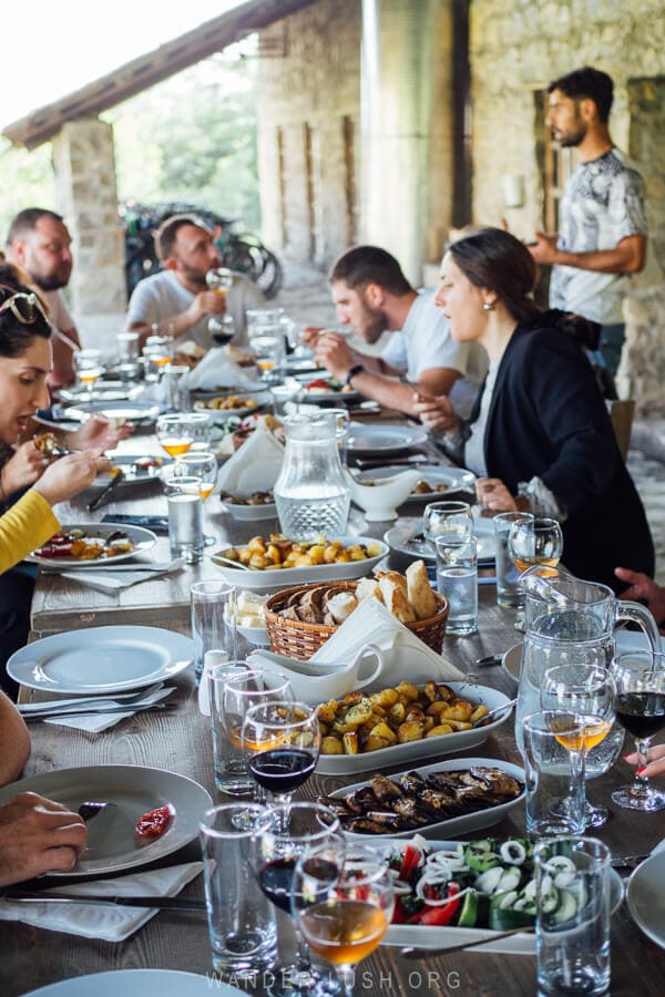
{"type": "MultiPolygon", "coordinates": [[[[0,441],[13,446],[28,420],[50,403],[51,327],[35,294],[0,285],[0,441]]],[[[44,460],[44,465],[48,463],[44,460]]],[[[101,451],[71,454],[45,466],[25,494],[0,516],[0,572],[7,571],[60,528],[51,506],[82,492],[109,466],[101,451]]]]}

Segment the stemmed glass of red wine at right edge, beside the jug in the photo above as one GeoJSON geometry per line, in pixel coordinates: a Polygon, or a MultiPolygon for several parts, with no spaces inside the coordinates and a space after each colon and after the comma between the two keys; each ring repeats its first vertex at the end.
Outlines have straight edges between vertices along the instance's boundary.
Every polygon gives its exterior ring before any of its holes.
{"type": "Polygon", "coordinates": [[[665,793],[640,775],[653,737],[665,728],[665,656],[648,650],[626,651],[612,662],[616,686],[616,719],[635,738],[637,770],[632,785],[612,793],[618,806],[647,813],[665,809],[665,793]]]}

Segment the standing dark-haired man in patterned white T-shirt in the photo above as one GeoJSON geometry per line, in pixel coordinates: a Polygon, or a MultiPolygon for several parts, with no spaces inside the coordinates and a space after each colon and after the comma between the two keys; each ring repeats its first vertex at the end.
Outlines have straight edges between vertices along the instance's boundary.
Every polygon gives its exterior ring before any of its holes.
{"type": "Polygon", "coordinates": [[[536,232],[530,246],[540,264],[553,264],[550,306],[600,322],[600,353],[616,373],[625,337],[623,298],[627,275],[646,259],[645,186],[612,143],[607,120],[612,79],[584,66],[548,88],[545,123],[582,163],[566,184],[557,236],[536,232]]]}

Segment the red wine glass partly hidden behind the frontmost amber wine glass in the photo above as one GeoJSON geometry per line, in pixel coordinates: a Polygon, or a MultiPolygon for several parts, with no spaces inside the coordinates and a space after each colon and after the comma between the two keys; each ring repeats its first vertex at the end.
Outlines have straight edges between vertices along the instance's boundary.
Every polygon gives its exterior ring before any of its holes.
{"type": "MultiPolygon", "coordinates": [[[[332,842],[344,850],[344,834],[337,814],[319,803],[278,804],[267,812],[272,824],[253,840],[249,861],[265,895],[289,914],[294,873],[303,852],[332,842]]],[[[273,967],[272,973],[280,997],[310,997],[321,976],[311,965],[296,923],[294,927],[296,957],[293,963],[273,967]]]]}

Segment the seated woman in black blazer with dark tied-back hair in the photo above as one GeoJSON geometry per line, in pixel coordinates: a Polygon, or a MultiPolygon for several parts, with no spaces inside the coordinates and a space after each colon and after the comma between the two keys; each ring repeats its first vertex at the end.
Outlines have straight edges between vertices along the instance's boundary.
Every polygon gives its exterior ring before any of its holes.
{"type": "Polygon", "coordinates": [[[577,577],[621,590],[614,566],[652,575],[654,546],[591,363],[576,338],[585,319],[542,312],[524,245],[485,228],[453,243],[437,304],[460,342],[480,342],[490,370],[469,425],[447,398],[417,407],[430,430],[479,475],[478,498],[561,522],[562,561],[577,577]]]}

